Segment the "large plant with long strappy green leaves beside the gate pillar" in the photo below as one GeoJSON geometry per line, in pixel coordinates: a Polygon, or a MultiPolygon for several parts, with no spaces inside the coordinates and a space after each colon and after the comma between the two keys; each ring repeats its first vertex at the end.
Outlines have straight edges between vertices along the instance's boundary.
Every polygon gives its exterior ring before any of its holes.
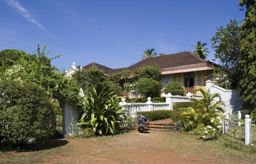
{"type": "Polygon", "coordinates": [[[122,120],[126,119],[127,111],[122,110],[119,97],[105,86],[100,91],[93,88],[90,97],[84,99],[87,109],[81,116],[79,125],[91,126],[98,135],[115,135],[121,132],[122,120]]]}

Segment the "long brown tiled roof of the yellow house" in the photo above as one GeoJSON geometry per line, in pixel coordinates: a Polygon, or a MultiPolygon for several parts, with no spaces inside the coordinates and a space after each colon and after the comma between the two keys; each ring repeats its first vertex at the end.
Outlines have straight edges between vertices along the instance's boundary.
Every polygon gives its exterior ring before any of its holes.
{"type": "Polygon", "coordinates": [[[140,62],[137,62],[125,68],[113,69],[113,68],[106,67],[104,65],[100,65],[96,62],[92,62],[84,66],[83,69],[89,69],[90,66],[95,65],[105,70],[105,74],[111,74],[112,72],[120,73],[124,69],[129,69],[130,71],[134,71],[144,65],[157,65],[159,68],[168,68],[168,67],[175,67],[175,66],[181,66],[181,65],[197,64],[202,62],[209,62],[209,61],[196,56],[191,51],[184,51],[184,52],[179,52],[175,54],[168,54],[164,56],[143,59],[140,62]]]}

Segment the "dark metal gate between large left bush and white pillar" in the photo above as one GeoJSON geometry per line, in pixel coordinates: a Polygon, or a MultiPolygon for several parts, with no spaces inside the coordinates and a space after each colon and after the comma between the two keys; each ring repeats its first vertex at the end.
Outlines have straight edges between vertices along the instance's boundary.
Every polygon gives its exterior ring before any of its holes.
{"type": "Polygon", "coordinates": [[[63,138],[63,113],[60,107],[54,110],[56,119],[56,130],[52,138],[63,138]]]}

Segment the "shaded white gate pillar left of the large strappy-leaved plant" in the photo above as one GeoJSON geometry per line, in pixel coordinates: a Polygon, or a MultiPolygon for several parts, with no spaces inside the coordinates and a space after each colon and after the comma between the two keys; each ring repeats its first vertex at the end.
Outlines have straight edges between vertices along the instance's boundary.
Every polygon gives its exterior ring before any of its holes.
{"type": "Polygon", "coordinates": [[[60,107],[63,111],[63,135],[64,137],[71,136],[76,133],[74,127],[76,127],[76,122],[79,121],[81,110],[64,100],[60,101],[60,107]]]}

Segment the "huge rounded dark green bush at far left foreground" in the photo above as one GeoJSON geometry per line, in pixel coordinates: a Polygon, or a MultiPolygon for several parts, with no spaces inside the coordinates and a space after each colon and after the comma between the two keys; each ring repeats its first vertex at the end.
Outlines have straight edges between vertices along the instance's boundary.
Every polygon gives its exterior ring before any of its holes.
{"type": "Polygon", "coordinates": [[[50,137],[55,114],[44,88],[32,82],[0,81],[2,142],[23,147],[29,139],[50,137]]]}

